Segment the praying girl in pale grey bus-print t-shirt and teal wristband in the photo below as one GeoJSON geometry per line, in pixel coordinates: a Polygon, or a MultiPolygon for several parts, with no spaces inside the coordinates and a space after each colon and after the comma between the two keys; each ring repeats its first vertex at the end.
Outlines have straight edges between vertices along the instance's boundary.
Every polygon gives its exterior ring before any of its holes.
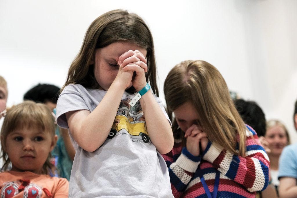
{"type": "Polygon", "coordinates": [[[113,10],[91,23],[57,103],[76,149],[69,197],[173,197],[161,156],[173,134],[156,76],[138,15],[113,10]]]}

